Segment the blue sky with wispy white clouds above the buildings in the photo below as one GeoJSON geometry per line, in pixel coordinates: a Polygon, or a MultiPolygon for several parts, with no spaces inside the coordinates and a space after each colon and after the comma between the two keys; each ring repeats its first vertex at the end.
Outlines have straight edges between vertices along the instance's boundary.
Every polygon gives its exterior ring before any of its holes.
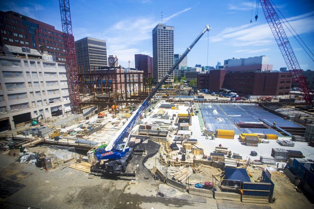
{"type": "MultiPolygon", "coordinates": [[[[73,35],[75,40],[86,36],[106,40],[107,54],[115,54],[119,63],[127,67],[134,54],[152,56],[152,29],[161,22],[174,26],[174,52],[183,53],[197,35],[209,24],[208,34],[198,41],[188,54],[188,66],[195,64],[215,66],[228,58],[269,56],[273,70],[286,67],[284,59],[264,17],[258,10],[255,22],[256,1],[240,0],[70,0],[73,35]]],[[[314,1],[273,0],[281,13],[314,51],[314,1]]],[[[42,22],[61,28],[59,1],[0,1],[2,11],[13,10],[42,22]]],[[[285,27],[284,27],[285,28],[285,27]]],[[[314,62],[301,49],[290,32],[285,29],[302,69],[314,70],[314,62]]]]}

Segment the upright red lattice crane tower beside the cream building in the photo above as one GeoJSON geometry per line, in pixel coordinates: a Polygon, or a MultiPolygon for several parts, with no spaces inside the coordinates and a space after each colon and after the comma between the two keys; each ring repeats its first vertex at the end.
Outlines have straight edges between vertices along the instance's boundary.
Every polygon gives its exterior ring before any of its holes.
{"type": "Polygon", "coordinates": [[[72,32],[72,22],[70,13],[69,0],[59,0],[62,31],[64,37],[65,56],[67,61],[67,77],[68,77],[68,88],[70,92],[70,100],[72,110],[78,113],[79,110],[79,90],[78,90],[78,72],[76,64],[76,53],[74,36],[72,32]]]}

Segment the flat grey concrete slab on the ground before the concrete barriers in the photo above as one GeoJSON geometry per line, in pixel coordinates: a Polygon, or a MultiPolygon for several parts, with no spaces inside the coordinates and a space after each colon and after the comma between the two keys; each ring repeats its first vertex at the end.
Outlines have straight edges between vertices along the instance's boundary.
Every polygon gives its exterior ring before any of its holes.
{"type": "Polygon", "coordinates": [[[165,184],[159,185],[157,197],[181,201],[206,202],[206,199],[202,196],[190,195],[187,192],[180,192],[165,184]]]}

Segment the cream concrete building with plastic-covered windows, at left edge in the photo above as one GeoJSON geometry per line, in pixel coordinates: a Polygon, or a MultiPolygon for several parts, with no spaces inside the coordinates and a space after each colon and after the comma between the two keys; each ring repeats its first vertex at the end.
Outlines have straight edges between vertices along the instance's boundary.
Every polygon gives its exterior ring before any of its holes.
{"type": "Polygon", "coordinates": [[[65,63],[0,56],[0,131],[71,111],[65,63]]]}

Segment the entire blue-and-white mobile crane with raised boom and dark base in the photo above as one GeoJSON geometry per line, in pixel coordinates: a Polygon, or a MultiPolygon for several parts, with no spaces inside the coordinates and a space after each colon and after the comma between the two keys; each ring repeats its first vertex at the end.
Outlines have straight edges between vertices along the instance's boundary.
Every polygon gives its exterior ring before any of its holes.
{"type": "Polygon", "coordinates": [[[147,96],[143,103],[134,111],[129,120],[124,124],[124,126],[115,134],[115,139],[105,148],[95,149],[95,156],[98,159],[96,164],[91,166],[91,171],[95,173],[102,173],[108,175],[116,176],[132,176],[134,174],[125,173],[127,169],[127,164],[133,157],[133,148],[128,147],[127,143],[130,139],[130,132],[133,126],[138,121],[140,116],[149,106],[150,99],[156,94],[158,89],[165,83],[165,81],[170,77],[174,69],[179,65],[179,63],[187,56],[191,51],[193,46],[200,40],[206,31],[210,31],[209,25],[206,25],[203,31],[198,35],[198,37],[192,42],[192,44],[187,48],[187,50],[182,54],[178,61],[171,67],[171,69],[165,74],[164,78],[156,85],[152,92],[147,96]],[[127,140],[123,142],[123,139],[127,137],[127,140]],[[101,163],[101,160],[108,159],[106,163],[101,163]],[[125,173],[125,174],[123,174],[125,173]]]}

